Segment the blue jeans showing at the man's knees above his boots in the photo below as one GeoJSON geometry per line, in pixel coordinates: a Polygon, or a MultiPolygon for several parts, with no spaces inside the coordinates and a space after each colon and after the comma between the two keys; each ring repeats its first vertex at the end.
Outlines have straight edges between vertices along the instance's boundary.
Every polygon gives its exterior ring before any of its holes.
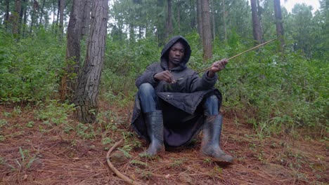
{"type": "MultiPolygon", "coordinates": [[[[138,97],[139,100],[141,100],[141,109],[143,113],[160,110],[157,94],[150,83],[143,83],[139,86],[138,97]]],[[[202,104],[205,116],[218,115],[218,101],[215,95],[207,97],[205,103],[202,104]]]]}

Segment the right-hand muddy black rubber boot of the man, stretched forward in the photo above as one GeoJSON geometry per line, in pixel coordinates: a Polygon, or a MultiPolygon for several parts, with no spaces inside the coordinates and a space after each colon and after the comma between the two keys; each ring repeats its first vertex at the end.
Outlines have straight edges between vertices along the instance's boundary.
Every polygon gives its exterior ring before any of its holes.
{"type": "Polygon", "coordinates": [[[206,116],[202,131],[201,153],[211,157],[216,162],[229,165],[233,163],[233,157],[224,153],[219,146],[222,123],[223,117],[221,115],[206,116]]]}

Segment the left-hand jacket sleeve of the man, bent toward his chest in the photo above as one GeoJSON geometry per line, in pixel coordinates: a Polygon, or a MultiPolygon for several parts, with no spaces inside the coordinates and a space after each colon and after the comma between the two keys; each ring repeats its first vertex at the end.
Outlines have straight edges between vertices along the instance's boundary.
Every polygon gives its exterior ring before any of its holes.
{"type": "Polygon", "coordinates": [[[139,86],[141,86],[141,84],[143,83],[150,83],[153,87],[155,87],[159,83],[159,81],[156,81],[153,77],[155,74],[157,74],[156,65],[157,63],[150,64],[146,68],[146,71],[144,71],[141,76],[138,76],[135,81],[135,85],[137,88],[139,88],[139,86]]]}

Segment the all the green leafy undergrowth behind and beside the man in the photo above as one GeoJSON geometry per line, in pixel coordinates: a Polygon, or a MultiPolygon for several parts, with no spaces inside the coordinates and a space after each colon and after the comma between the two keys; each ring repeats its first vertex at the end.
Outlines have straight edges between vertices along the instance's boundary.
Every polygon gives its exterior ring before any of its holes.
{"type": "MultiPolygon", "coordinates": [[[[214,57],[202,61],[198,34],[186,35],[193,55],[188,67],[199,71],[216,60],[232,57],[253,46],[252,41],[231,37],[226,43],[214,42],[214,57]]],[[[41,30],[35,37],[15,41],[0,32],[0,103],[9,106],[36,106],[37,119],[49,124],[65,124],[65,130],[101,132],[94,125],[70,125],[67,116],[74,105],[60,103],[58,88],[65,67],[65,47],[56,36],[41,30]],[[42,106],[40,104],[42,102],[42,106]],[[91,131],[93,130],[93,131],[91,131]]],[[[108,38],[101,78],[100,100],[110,107],[129,109],[137,88],[134,84],[146,67],[159,60],[161,47],[152,39],[134,44],[108,38]]],[[[84,55],[84,54],[82,54],[84,55]]],[[[328,62],[304,57],[303,53],[281,54],[278,43],[245,53],[230,60],[218,73],[216,84],[223,95],[222,111],[243,119],[257,135],[273,135],[295,128],[307,128],[317,136],[328,135],[328,62]]],[[[200,74],[202,75],[202,74],[200,74]]],[[[100,116],[105,116],[103,110],[100,116]]],[[[103,124],[105,130],[108,129],[103,124]]],[[[33,123],[28,123],[30,127],[33,123]]],[[[111,138],[105,136],[105,138],[111,138]]],[[[108,140],[104,140],[108,142],[108,140]]]]}

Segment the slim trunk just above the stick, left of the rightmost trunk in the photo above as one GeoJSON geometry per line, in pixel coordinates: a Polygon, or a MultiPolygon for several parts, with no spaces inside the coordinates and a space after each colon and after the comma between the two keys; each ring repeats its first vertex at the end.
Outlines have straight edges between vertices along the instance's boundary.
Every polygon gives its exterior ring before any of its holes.
{"type": "Polygon", "coordinates": [[[259,22],[257,2],[256,0],[250,0],[250,5],[252,9],[252,34],[254,36],[255,45],[262,43],[262,28],[259,22]]]}

